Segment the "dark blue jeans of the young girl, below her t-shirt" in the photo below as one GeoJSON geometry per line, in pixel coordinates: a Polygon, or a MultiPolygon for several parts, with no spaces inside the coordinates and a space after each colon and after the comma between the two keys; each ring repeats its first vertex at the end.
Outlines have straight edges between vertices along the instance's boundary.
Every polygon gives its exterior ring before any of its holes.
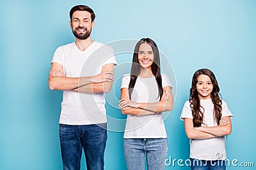
{"type": "Polygon", "coordinates": [[[191,160],[191,170],[225,170],[225,160],[191,160]]]}

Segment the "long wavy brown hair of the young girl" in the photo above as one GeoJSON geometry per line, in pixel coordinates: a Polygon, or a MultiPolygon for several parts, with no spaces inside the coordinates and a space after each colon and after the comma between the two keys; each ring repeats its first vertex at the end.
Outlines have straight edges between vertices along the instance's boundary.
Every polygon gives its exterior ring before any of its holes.
{"type": "Polygon", "coordinates": [[[195,74],[193,75],[192,79],[192,85],[190,89],[190,96],[189,96],[189,103],[193,115],[193,125],[194,127],[200,127],[202,124],[204,124],[204,108],[200,105],[200,99],[198,97],[198,92],[196,90],[196,83],[198,82],[197,78],[201,74],[209,76],[209,78],[212,81],[213,89],[211,92],[211,99],[212,103],[214,105],[214,110],[213,110],[213,116],[215,122],[219,125],[220,124],[220,119],[221,119],[221,98],[220,98],[220,88],[218,86],[218,82],[212,73],[211,70],[209,69],[198,69],[195,74]]]}

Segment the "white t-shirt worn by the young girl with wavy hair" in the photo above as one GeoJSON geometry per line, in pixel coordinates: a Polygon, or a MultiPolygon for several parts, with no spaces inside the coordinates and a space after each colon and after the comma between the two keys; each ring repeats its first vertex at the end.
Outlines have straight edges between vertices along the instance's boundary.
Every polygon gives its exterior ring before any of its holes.
{"type": "MultiPolygon", "coordinates": [[[[217,126],[217,123],[214,121],[213,109],[214,105],[212,99],[200,100],[201,106],[204,108],[204,124],[202,126],[217,126]]],[[[222,101],[222,117],[233,117],[230,110],[228,110],[227,103],[222,101]]],[[[221,118],[222,118],[221,117],[221,118]]],[[[190,108],[189,101],[186,101],[180,115],[180,120],[184,118],[191,118],[192,111],[190,108]]],[[[227,153],[225,150],[225,136],[216,137],[211,139],[190,139],[190,158],[199,159],[199,160],[225,160],[227,159],[227,153]]]]}

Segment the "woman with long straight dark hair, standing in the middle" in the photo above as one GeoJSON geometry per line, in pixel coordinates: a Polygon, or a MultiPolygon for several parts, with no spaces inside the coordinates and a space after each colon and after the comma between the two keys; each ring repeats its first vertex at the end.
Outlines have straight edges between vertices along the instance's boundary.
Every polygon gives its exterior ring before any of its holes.
{"type": "Polygon", "coordinates": [[[162,112],[173,107],[168,77],[160,73],[159,51],[150,38],[135,46],[131,74],[122,78],[119,107],[127,115],[124,154],[127,169],[164,169],[167,139],[162,112]]]}

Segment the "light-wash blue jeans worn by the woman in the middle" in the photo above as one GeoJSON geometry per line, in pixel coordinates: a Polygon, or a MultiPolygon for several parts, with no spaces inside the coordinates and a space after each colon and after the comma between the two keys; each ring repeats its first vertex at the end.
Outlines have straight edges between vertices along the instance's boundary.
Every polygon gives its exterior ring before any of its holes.
{"type": "Polygon", "coordinates": [[[164,169],[168,143],[166,138],[124,139],[124,156],[128,170],[164,169]]]}

